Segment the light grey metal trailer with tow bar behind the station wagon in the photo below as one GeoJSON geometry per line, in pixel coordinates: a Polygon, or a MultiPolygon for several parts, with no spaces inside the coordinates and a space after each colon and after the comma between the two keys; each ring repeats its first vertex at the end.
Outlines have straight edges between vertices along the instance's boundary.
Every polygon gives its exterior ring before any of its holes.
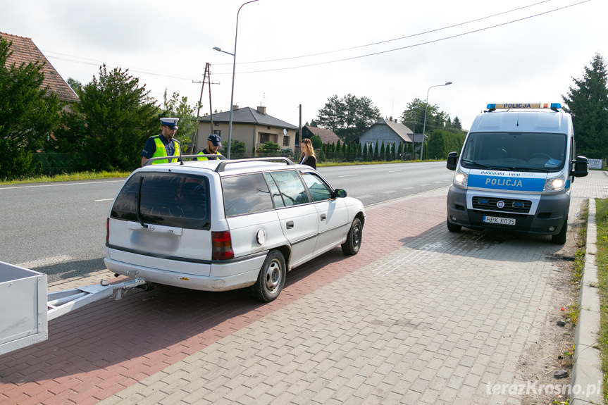
{"type": "Polygon", "coordinates": [[[101,280],[58,292],[46,292],[46,274],[0,261],[0,354],[49,338],[49,320],[100,299],[146,284],[138,278],[111,285],[101,280]]]}

